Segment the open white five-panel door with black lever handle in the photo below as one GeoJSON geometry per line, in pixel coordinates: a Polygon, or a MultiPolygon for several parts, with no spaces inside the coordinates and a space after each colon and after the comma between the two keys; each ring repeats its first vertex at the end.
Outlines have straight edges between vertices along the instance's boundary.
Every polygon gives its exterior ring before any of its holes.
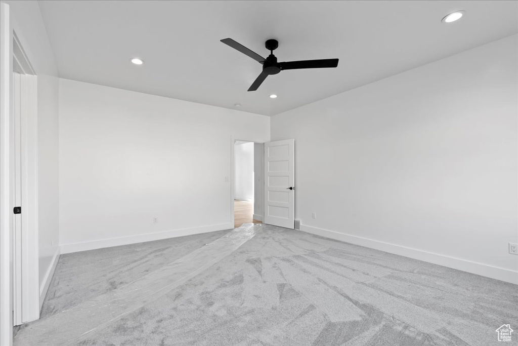
{"type": "Polygon", "coordinates": [[[295,140],[264,144],[264,220],[268,225],[295,226],[295,140]]]}

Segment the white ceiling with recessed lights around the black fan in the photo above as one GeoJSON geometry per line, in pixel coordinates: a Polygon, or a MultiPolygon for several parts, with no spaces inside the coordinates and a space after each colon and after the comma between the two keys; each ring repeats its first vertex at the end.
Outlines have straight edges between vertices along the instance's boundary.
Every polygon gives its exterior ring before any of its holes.
{"type": "MultiPolygon", "coordinates": [[[[512,35],[516,1],[39,1],[60,76],[275,115],[512,35]],[[441,23],[455,10],[458,22],[441,23]],[[279,61],[339,58],[282,71],[253,92],[262,65],[231,37],[279,61]],[[140,57],[135,66],[130,58],[140,57]],[[279,95],[270,99],[269,94],[279,95]]],[[[376,100],[372,100],[376,102],[376,100]]]]}

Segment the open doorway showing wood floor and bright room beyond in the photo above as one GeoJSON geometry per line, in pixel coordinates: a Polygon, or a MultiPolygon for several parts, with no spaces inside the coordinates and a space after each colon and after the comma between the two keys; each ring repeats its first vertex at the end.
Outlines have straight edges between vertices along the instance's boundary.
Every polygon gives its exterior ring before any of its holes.
{"type": "Polygon", "coordinates": [[[262,223],[262,143],[234,143],[234,227],[262,223]]]}

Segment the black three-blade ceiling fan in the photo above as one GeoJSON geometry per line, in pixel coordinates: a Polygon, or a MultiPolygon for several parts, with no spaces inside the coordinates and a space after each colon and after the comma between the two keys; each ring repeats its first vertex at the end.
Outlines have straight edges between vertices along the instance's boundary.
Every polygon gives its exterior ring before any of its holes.
{"type": "Polygon", "coordinates": [[[321,59],[321,60],[301,60],[301,61],[287,61],[277,62],[277,57],[274,56],[274,50],[279,47],[279,42],[276,39],[269,39],[265,43],[266,49],[270,51],[268,58],[263,58],[259,54],[253,52],[247,47],[237,43],[232,38],[224,38],[221,40],[225,45],[231,46],[246,54],[250,58],[263,65],[263,72],[255,79],[248,91],[255,91],[261,83],[268,77],[268,75],[276,75],[282,70],[297,70],[299,68],[323,68],[338,66],[338,59],[321,59]]]}

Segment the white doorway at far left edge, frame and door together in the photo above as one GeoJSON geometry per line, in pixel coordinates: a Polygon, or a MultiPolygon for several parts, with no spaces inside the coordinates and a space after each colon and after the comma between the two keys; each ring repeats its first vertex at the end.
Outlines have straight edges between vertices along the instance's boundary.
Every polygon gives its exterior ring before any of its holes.
{"type": "Polygon", "coordinates": [[[12,343],[12,326],[39,318],[37,80],[34,68],[13,32],[9,5],[1,3],[0,18],[0,344],[12,343]],[[20,73],[15,105],[13,73],[20,73]],[[23,81],[21,80],[23,79],[23,81]],[[15,106],[19,109],[15,119],[15,106]],[[15,124],[19,131],[15,145],[15,124]],[[16,158],[20,159],[16,159],[16,158]],[[15,160],[18,170],[15,171],[15,160]],[[15,205],[20,182],[21,205],[15,205]],[[22,207],[22,222],[14,242],[13,207],[22,207]],[[15,253],[18,260],[15,260],[15,253]],[[15,268],[18,269],[17,277],[15,268]],[[15,285],[15,279],[18,285],[15,285]],[[18,299],[13,320],[13,299],[18,299]]]}

